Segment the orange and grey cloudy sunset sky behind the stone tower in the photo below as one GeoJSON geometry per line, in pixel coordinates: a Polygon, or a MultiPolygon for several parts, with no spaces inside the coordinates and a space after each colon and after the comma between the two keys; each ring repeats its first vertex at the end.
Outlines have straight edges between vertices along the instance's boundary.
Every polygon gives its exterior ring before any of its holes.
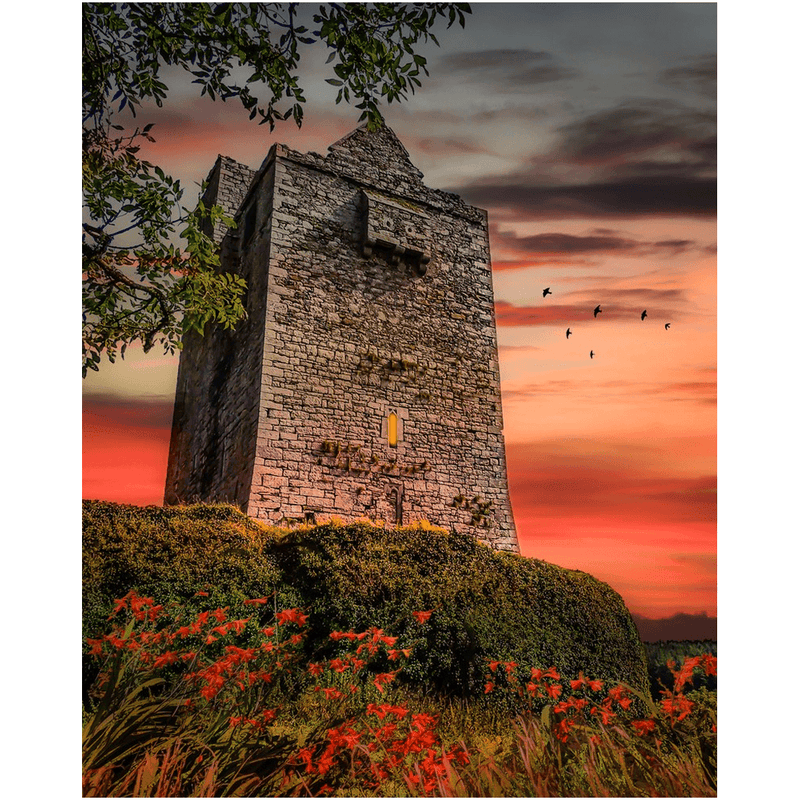
{"type": "MultiPolygon", "coordinates": [[[[714,4],[478,4],[385,109],[429,186],[489,212],[522,554],[684,615],[687,638],[717,613],[716,37],[714,4]]],[[[358,124],[326,55],[308,49],[299,131],[168,71],[144,157],[192,205],[219,153],[324,153],[358,124]]],[[[85,498],[162,502],[176,370],[131,347],[83,382],[85,498]]]]}

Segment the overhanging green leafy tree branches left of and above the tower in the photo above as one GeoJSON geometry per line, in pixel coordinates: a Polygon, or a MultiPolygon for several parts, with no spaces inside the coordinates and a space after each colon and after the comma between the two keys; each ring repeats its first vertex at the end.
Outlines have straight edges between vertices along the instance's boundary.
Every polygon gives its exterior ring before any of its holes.
{"type": "Polygon", "coordinates": [[[419,42],[438,45],[440,19],[463,27],[467,3],[331,4],[298,21],[298,3],[94,4],[83,14],[83,374],[106,353],[114,361],[141,341],[147,352],[180,348],[187,330],[231,327],[245,314],[244,281],[219,268],[208,222],[233,221],[222,209],[180,205],[183,188],[139,158],[143,102],[161,106],[164,66],[194,76],[212,100],[238,98],[250,119],[274,128],[303,121],[301,46],[330,51],[336,102],[381,124],[381,100],[405,100],[428,74],[419,42]],[[259,94],[261,97],[259,97],[259,94]],[[120,124],[124,114],[126,124],[120,124]],[[174,243],[180,229],[181,246],[174,243]]]}

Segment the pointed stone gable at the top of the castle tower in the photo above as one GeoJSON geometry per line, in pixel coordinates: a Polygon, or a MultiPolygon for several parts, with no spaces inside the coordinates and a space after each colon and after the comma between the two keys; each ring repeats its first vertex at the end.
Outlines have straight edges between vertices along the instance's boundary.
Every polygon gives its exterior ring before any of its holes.
{"type": "Polygon", "coordinates": [[[422,172],[411,163],[408,150],[386,123],[375,131],[367,130],[366,123],[359,125],[328,147],[326,160],[362,173],[379,170],[407,181],[422,179],[422,172]]]}

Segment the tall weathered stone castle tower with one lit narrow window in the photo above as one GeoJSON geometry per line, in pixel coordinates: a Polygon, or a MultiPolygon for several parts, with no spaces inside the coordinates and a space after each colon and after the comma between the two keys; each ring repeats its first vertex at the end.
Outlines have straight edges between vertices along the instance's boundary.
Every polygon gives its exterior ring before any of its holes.
{"type": "Polygon", "coordinates": [[[425,186],[386,126],[328,150],[211,170],[247,319],[184,339],[165,503],[427,519],[517,552],[486,212],[425,186]]]}

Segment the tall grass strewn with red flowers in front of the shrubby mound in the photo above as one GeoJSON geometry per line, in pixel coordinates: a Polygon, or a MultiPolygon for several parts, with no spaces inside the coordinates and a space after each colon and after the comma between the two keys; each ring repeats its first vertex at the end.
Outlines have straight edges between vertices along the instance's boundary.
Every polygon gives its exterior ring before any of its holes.
{"type": "MultiPolygon", "coordinates": [[[[201,596],[203,593],[199,593],[201,596]]],[[[88,646],[84,796],[714,796],[715,695],[660,697],[551,666],[490,661],[483,694],[403,684],[413,637],[332,631],[304,655],[308,615],[163,608],[131,592],[88,646]]],[[[202,604],[202,597],[197,599],[202,604]]],[[[433,612],[435,613],[435,612],[433,612]]],[[[428,611],[414,612],[416,626],[428,611]]]]}

